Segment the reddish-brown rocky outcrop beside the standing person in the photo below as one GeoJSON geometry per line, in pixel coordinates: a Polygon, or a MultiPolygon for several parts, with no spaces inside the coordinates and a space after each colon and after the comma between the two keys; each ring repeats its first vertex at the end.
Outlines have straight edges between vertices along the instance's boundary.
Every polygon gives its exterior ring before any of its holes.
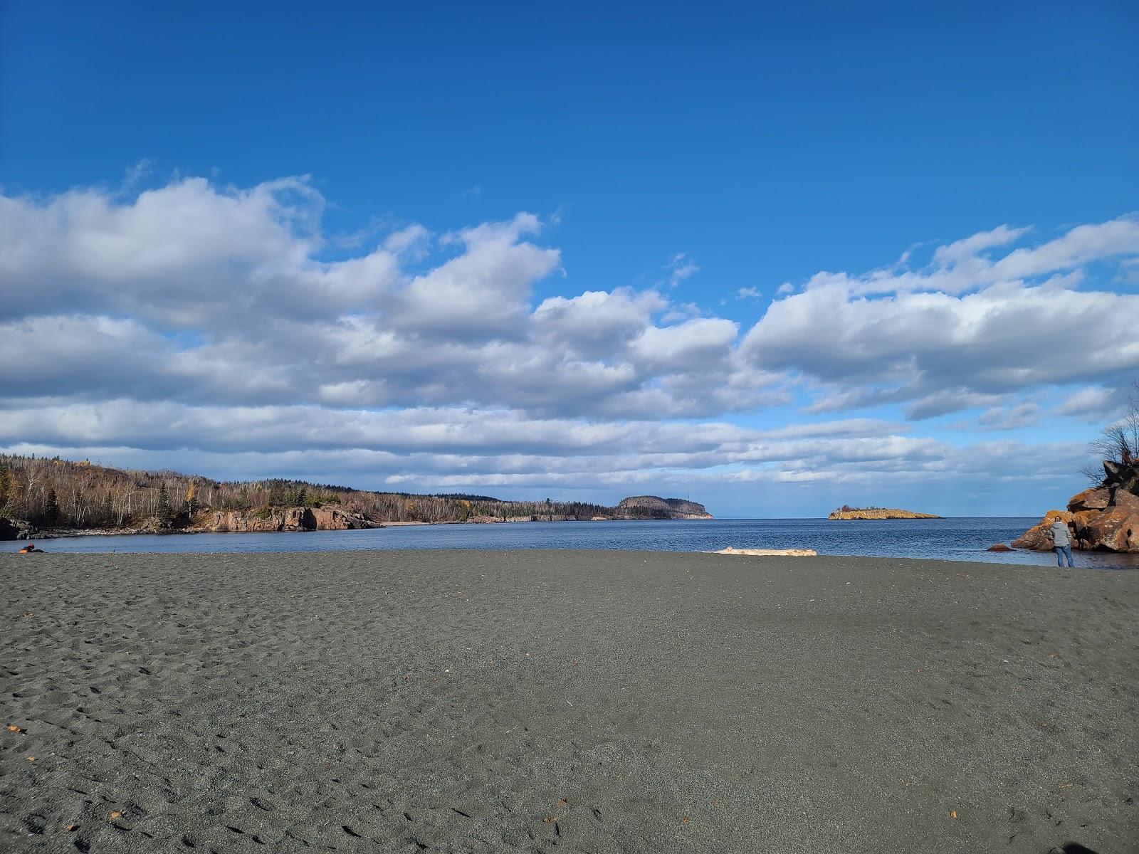
{"type": "Polygon", "coordinates": [[[1104,475],[1098,486],[1073,495],[1067,510],[1044,514],[1013,545],[1048,551],[1052,548],[1048,528],[1059,519],[1067,523],[1076,549],[1139,552],[1139,462],[1105,462],[1104,475]]]}

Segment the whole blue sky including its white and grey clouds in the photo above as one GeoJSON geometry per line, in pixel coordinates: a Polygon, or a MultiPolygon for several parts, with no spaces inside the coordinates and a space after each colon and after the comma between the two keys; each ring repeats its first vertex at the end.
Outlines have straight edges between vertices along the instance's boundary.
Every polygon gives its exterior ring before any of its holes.
{"type": "Polygon", "coordinates": [[[1130,2],[0,10],[11,450],[1036,514],[1139,377],[1130,2]]]}

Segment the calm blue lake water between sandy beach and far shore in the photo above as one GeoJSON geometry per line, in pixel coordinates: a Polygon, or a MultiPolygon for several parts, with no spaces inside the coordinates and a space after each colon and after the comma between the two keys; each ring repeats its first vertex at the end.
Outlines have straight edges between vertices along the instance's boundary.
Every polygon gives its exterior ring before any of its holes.
{"type": "MultiPolygon", "coordinates": [[[[711,519],[664,522],[527,522],[497,525],[424,525],[372,531],[281,534],[81,536],[41,542],[56,552],[333,551],[338,549],[639,549],[714,551],[814,549],[820,555],[983,560],[1055,565],[1051,552],[990,552],[1034,525],[1036,518],[711,519]]],[[[1077,553],[1093,568],[1139,568],[1139,555],[1077,553]]]]}

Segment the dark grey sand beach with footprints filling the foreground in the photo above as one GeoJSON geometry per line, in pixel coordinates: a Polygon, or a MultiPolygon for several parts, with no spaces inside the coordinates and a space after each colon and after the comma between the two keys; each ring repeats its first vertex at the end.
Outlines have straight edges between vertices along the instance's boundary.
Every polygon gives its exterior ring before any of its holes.
{"type": "Polygon", "coordinates": [[[1134,572],[48,553],[0,590],[6,852],[1139,851],[1134,572]]]}

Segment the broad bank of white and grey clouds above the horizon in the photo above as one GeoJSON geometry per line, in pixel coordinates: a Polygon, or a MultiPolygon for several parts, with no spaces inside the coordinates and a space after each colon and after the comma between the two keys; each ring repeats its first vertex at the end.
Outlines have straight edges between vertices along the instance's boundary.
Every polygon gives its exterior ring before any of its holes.
{"type": "Polygon", "coordinates": [[[592,289],[533,213],[347,239],[326,204],[304,176],[0,195],[0,447],[507,498],[690,488],[713,511],[724,486],[737,512],[812,486],[1070,492],[1139,376],[1133,214],[735,282],[741,321],[675,299],[707,273],[683,253],[657,287],[592,289]]]}

